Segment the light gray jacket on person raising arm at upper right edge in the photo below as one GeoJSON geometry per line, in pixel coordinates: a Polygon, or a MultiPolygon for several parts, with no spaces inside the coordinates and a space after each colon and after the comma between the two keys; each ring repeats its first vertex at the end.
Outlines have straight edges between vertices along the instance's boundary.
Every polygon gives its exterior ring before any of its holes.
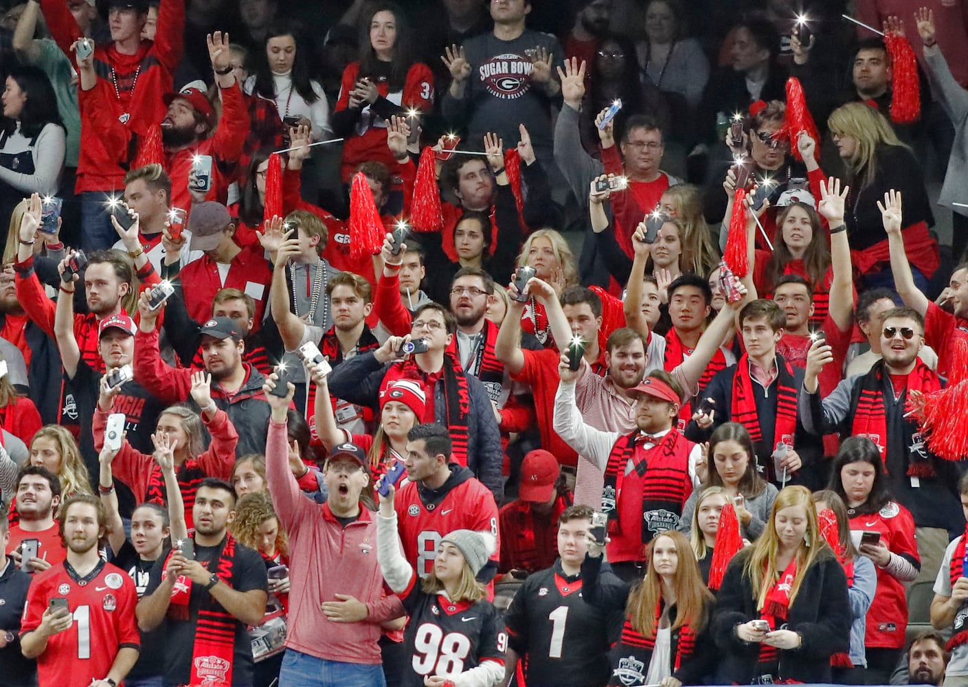
{"type": "Polygon", "coordinates": [[[954,80],[948,62],[937,45],[924,47],[923,66],[931,80],[931,91],[954,125],[952,156],[948,159],[948,171],[938,204],[961,215],[968,215],[968,207],[954,205],[955,202],[966,202],[964,180],[968,176],[968,91],[954,80]]]}

